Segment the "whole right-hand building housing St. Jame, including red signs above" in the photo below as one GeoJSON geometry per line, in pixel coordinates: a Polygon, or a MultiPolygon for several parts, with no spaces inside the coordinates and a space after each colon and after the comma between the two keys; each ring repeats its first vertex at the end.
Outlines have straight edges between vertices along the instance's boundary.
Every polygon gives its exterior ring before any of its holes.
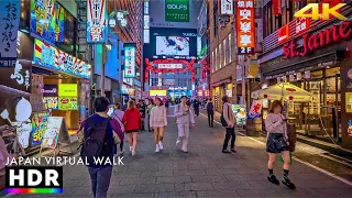
{"type": "MultiPolygon", "coordinates": [[[[268,86],[284,81],[296,86],[292,91],[312,97],[306,102],[299,97],[284,98],[299,134],[330,142],[332,138],[351,148],[351,21],[294,18],[312,2],[329,1],[288,1],[282,7],[277,1],[264,1],[262,81],[268,86]]],[[[351,19],[351,6],[341,8],[340,13],[351,19]]]]}

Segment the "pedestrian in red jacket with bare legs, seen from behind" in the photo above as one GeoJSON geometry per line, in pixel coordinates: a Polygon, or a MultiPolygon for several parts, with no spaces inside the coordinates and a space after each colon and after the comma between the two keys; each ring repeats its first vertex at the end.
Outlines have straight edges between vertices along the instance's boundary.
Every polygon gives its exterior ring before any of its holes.
{"type": "Polygon", "coordinates": [[[141,128],[141,113],[135,107],[133,100],[129,101],[129,108],[124,111],[122,123],[124,124],[124,130],[128,133],[130,152],[132,156],[135,155],[136,147],[136,136],[141,128]]]}

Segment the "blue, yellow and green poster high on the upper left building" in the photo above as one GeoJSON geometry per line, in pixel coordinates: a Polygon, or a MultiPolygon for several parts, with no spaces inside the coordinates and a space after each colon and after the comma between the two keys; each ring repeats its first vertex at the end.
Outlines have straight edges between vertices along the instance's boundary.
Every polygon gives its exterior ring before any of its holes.
{"type": "Polygon", "coordinates": [[[56,0],[31,0],[31,33],[55,43],[56,0]]]}

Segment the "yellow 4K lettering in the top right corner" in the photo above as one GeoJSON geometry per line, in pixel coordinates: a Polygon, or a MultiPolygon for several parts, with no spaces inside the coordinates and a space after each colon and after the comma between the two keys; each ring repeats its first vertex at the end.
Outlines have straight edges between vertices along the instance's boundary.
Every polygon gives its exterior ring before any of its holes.
{"type": "Polygon", "coordinates": [[[344,15],[339,13],[339,9],[344,7],[346,3],[338,3],[334,7],[330,8],[329,3],[322,3],[322,13],[319,13],[319,3],[309,3],[305,8],[300,9],[298,12],[295,13],[295,18],[310,18],[312,20],[329,20],[330,14],[338,18],[341,21],[348,20],[344,15]],[[310,13],[306,13],[310,11],[310,13]]]}

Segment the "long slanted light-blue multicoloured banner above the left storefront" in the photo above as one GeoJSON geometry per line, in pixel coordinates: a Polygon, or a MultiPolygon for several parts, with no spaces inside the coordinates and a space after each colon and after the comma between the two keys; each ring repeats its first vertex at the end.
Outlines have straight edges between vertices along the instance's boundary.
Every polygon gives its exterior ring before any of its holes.
{"type": "Polygon", "coordinates": [[[34,64],[90,79],[91,65],[40,40],[34,41],[34,64]]]}

